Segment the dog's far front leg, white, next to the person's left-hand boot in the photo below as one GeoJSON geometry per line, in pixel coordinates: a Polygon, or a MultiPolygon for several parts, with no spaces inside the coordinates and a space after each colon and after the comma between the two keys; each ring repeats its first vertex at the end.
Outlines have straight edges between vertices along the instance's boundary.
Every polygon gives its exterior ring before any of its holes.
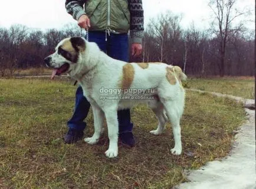
{"type": "Polygon", "coordinates": [[[91,104],[93,108],[93,118],[94,118],[94,134],[92,137],[84,138],[88,144],[96,144],[99,141],[101,131],[103,129],[103,118],[104,113],[96,105],[91,104]]]}

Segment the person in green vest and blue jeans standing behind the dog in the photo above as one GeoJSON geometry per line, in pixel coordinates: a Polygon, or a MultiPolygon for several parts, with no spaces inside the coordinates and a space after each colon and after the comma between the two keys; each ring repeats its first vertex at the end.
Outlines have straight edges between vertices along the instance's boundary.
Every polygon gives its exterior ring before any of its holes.
{"type": "MultiPolygon", "coordinates": [[[[66,0],[65,8],[81,28],[88,28],[88,41],[96,42],[101,51],[111,58],[129,61],[129,31],[131,54],[141,54],[144,31],[142,0],[66,0]]],[[[89,109],[90,103],[84,97],[81,86],[78,86],[74,114],[67,122],[69,130],[64,137],[65,143],[71,144],[83,138],[86,128],[84,119],[89,109]]],[[[124,144],[132,147],[135,141],[130,110],[120,110],[117,116],[119,137],[124,144]]]]}

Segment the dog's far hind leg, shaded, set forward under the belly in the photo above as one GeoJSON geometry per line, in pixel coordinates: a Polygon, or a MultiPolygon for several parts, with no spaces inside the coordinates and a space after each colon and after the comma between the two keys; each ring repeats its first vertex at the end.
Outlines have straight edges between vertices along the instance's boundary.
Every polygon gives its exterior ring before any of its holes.
{"type": "Polygon", "coordinates": [[[156,114],[157,120],[158,120],[158,125],[157,125],[157,129],[150,131],[151,134],[154,135],[160,135],[162,134],[163,130],[165,129],[165,123],[166,123],[166,118],[165,118],[165,114],[163,112],[163,107],[159,105],[159,107],[157,108],[152,108],[152,111],[156,114]]]}

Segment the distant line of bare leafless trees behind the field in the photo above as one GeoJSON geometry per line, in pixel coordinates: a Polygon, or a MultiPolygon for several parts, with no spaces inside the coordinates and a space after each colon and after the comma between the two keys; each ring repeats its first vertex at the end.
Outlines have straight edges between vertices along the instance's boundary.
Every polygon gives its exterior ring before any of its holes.
{"type": "MultiPolygon", "coordinates": [[[[214,29],[180,26],[181,17],[170,12],[152,19],[145,28],[143,54],[131,61],[179,65],[188,75],[254,75],[254,31],[239,28],[223,36],[214,29]],[[232,32],[232,33],[231,33],[232,32]],[[225,45],[225,54],[223,54],[225,45]]],[[[0,71],[5,76],[17,68],[44,67],[43,59],[66,37],[80,36],[76,24],[62,29],[0,28],[0,71]]],[[[228,31],[226,31],[228,32],[228,31]]],[[[89,36],[90,37],[90,36],[89,36]]]]}

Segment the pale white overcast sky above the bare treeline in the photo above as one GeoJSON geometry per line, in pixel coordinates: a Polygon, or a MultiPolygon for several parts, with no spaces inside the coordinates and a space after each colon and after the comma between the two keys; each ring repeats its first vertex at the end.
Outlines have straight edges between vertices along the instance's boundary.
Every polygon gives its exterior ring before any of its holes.
{"type": "MultiPolygon", "coordinates": [[[[251,8],[254,18],[255,4],[253,0],[237,0],[239,8],[251,8]]],[[[149,19],[161,12],[170,10],[175,14],[182,14],[182,26],[188,26],[192,21],[199,28],[207,28],[211,15],[208,7],[209,0],[143,0],[145,25],[149,19]]],[[[0,26],[9,28],[12,24],[27,25],[29,28],[61,28],[68,23],[76,21],[67,14],[64,0],[2,0],[0,7],[0,26]]],[[[250,22],[248,28],[254,29],[255,22],[250,22]]]]}

